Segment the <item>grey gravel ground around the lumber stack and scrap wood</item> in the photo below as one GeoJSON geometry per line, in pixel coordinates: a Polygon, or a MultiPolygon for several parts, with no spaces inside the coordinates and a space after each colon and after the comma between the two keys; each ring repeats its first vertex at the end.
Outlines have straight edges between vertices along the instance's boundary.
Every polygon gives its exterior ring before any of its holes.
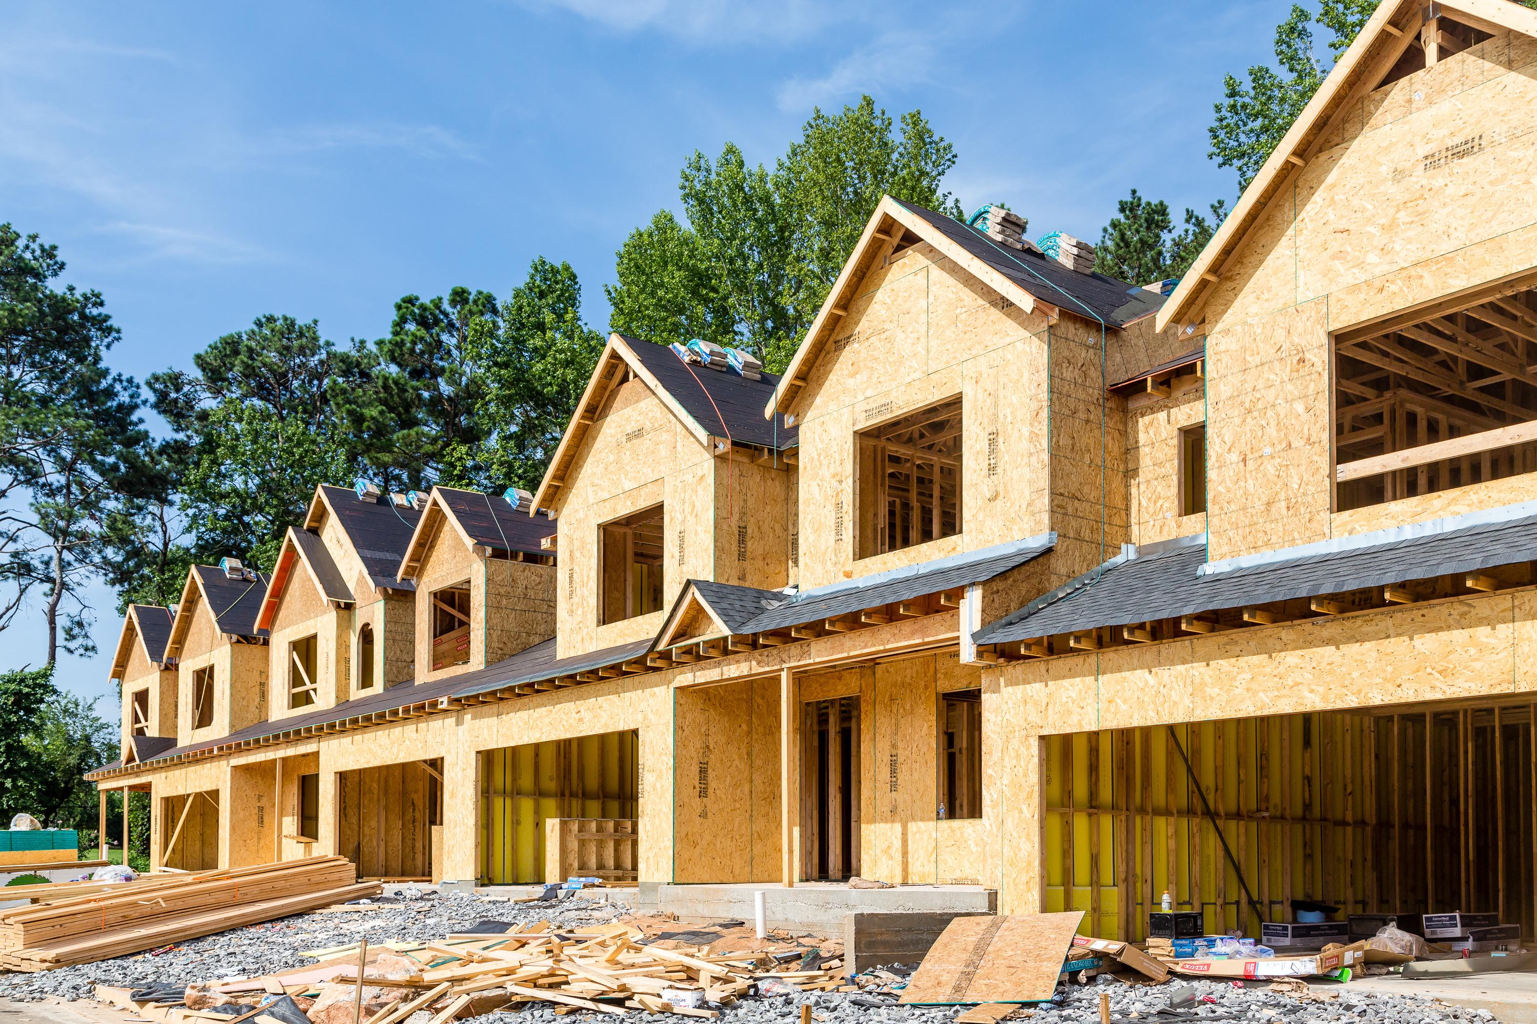
{"type": "MultiPolygon", "coordinates": [[[[154,981],[184,984],[220,978],[254,976],[314,963],[300,956],[301,950],[341,946],[367,938],[372,943],[390,940],[421,941],[467,927],[484,918],[516,921],[541,918],[567,927],[606,924],[624,913],[622,906],[566,900],[558,904],[510,904],[460,894],[427,894],[420,900],[389,904],[381,910],[360,913],[298,915],[254,924],[251,927],[211,935],[155,953],[120,956],[78,967],[61,967],[35,975],[0,973],[0,998],[37,1001],[46,996],[63,999],[91,998],[95,984],[137,986],[154,981]]],[[[1371,1024],[1486,1024],[1496,1018],[1488,1010],[1448,1007],[1417,996],[1377,995],[1337,989],[1339,996],[1320,1001],[1270,992],[1263,986],[1242,987],[1230,981],[1191,979],[1164,986],[1127,986],[1120,983],[1061,986],[1050,1004],[1030,1007],[1030,1024],[1097,1024],[1099,995],[1110,995],[1111,1018],[1117,1024],[1137,1021],[1231,1019],[1271,1024],[1311,1024],[1314,1021],[1363,1021],[1371,1024]],[[1179,1015],[1159,1013],[1170,998],[1193,989],[1197,996],[1213,1001],[1185,1003],[1179,1015]],[[1133,1016],[1134,1015],[1134,1016],[1133,1016]]],[[[1333,989],[1330,992],[1334,992],[1333,989]]],[[[801,1004],[810,1003],[818,1024],[948,1024],[964,1007],[895,1006],[895,995],[870,996],[853,993],[807,993],[776,998],[741,999],[721,1013],[721,1024],[795,1024],[801,1004]],[[876,1006],[890,999],[890,1006],[876,1006]]],[[[426,1021],[424,1013],[417,1018],[426,1021]]],[[[413,1018],[412,1024],[418,1024],[413,1018]]],[[[558,1016],[553,1007],[529,1006],[516,1013],[490,1013],[475,1024],[578,1024],[607,1021],[610,1015],[570,1013],[558,1016]]],[[[695,1018],[646,1016],[655,1024],[698,1024],[695,1018]]]]}

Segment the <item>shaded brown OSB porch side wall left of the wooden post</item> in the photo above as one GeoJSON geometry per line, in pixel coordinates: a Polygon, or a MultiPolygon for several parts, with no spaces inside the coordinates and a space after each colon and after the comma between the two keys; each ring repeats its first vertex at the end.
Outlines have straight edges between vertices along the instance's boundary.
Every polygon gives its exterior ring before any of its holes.
{"type": "Polygon", "coordinates": [[[672,880],[776,881],[779,680],[679,689],[676,700],[672,880]]]}

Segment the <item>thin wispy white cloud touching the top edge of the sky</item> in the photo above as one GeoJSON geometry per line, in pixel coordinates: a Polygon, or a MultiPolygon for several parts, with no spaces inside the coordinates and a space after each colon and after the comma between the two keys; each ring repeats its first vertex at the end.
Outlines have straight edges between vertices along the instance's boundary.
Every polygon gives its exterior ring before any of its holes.
{"type": "Polygon", "coordinates": [[[847,21],[845,0],[520,0],[561,9],[616,32],[664,32],[693,43],[738,45],[804,38],[847,21]]]}

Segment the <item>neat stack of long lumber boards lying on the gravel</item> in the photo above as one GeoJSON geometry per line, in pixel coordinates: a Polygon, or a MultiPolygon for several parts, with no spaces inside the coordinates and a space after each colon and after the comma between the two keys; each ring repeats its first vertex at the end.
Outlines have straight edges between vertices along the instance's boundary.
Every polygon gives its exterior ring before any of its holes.
{"type": "Polygon", "coordinates": [[[78,884],[0,910],[0,967],[86,964],[380,892],[344,857],[78,884]]]}

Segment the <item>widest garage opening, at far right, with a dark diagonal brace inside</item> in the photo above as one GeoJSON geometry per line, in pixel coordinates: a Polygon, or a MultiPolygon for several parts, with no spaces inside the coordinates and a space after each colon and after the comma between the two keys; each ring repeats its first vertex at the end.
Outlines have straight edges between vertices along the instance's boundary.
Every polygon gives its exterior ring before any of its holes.
{"type": "Polygon", "coordinates": [[[1534,705],[1271,715],[1045,737],[1045,910],[1140,941],[1349,913],[1497,913],[1537,933],[1534,705]]]}

